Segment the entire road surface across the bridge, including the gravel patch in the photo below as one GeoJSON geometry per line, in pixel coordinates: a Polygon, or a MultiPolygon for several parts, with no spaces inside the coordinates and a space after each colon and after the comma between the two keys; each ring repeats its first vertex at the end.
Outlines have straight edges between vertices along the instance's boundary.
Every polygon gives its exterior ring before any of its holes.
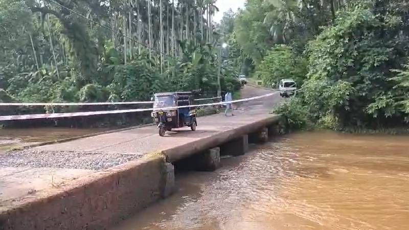
{"type": "MultiPolygon", "coordinates": [[[[242,97],[271,93],[246,86],[242,97]]],[[[196,148],[198,140],[235,130],[254,121],[270,117],[277,95],[245,102],[235,110],[235,117],[215,114],[198,118],[196,131],[189,127],[160,137],[155,126],[87,137],[71,142],[41,146],[22,152],[0,154],[0,210],[16,200],[35,196],[36,192],[58,187],[81,176],[137,159],[146,153],[182,147],[196,148]],[[184,147],[188,146],[188,147],[184,147]]],[[[203,146],[201,146],[203,147],[203,146]]]]}

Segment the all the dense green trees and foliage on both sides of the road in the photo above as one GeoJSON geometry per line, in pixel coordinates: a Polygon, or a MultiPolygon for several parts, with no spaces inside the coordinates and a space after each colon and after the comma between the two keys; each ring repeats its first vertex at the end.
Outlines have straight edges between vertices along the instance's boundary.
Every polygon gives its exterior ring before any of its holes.
{"type": "Polygon", "coordinates": [[[214,96],[221,63],[222,91],[238,89],[239,74],[296,80],[297,98],[276,109],[292,128],[409,122],[407,1],[247,0],[220,25],[212,0],[53,2],[0,0],[0,100],[214,96]]]}

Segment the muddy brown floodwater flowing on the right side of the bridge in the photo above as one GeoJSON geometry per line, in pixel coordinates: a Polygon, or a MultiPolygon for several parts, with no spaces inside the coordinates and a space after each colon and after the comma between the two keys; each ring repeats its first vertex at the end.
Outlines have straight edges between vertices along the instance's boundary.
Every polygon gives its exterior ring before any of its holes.
{"type": "Polygon", "coordinates": [[[112,229],[409,229],[409,136],[297,133],[222,164],[112,229]]]}

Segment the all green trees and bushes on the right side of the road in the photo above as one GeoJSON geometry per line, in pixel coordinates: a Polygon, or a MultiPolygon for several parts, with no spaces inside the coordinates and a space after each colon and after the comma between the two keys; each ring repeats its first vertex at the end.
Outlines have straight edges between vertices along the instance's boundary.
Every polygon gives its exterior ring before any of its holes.
{"type": "Polygon", "coordinates": [[[234,32],[265,85],[302,86],[288,126],[359,130],[409,122],[408,29],[404,0],[248,0],[234,32]]]}

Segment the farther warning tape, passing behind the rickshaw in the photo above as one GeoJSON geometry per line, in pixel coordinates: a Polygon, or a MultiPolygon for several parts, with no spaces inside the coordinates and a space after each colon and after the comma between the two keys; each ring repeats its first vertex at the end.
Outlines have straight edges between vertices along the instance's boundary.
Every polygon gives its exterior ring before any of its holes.
{"type": "MultiPolygon", "coordinates": [[[[194,101],[213,100],[214,98],[200,98],[194,101]]],[[[90,102],[90,103],[0,103],[0,106],[71,106],[71,105],[135,105],[135,104],[153,104],[153,101],[131,101],[131,102],[90,102]]]]}

